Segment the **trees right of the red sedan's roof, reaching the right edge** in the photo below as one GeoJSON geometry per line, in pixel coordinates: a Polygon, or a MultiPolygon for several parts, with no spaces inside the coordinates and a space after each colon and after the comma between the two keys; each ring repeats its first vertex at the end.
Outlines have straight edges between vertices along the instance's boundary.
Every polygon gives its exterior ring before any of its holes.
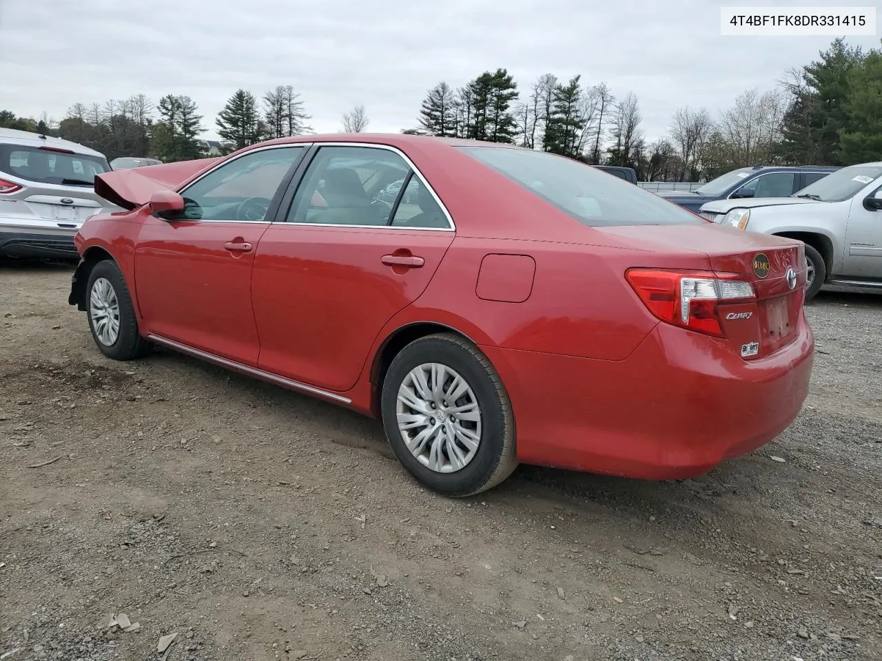
{"type": "Polygon", "coordinates": [[[553,73],[520,91],[505,69],[459,88],[432,87],[409,133],[464,137],[633,167],[645,181],[699,181],[735,167],[850,165],[882,159],[882,51],[833,41],[766,93],[740,94],[718,116],[677,108],[647,140],[634,93],[553,73]]]}

